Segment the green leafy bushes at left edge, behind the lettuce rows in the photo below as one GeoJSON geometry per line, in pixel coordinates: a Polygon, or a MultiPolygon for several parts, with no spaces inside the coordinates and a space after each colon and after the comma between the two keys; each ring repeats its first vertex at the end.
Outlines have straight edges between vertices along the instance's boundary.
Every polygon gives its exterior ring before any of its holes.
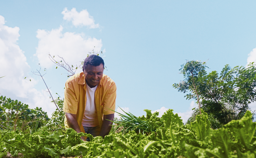
{"type": "Polygon", "coordinates": [[[42,108],[30,109],[27,104],[17,100],[0,97],[0,129],[34,132],[49,120],[42,108]],[[22,120],[22,121],[21,121],[22,120]]]}

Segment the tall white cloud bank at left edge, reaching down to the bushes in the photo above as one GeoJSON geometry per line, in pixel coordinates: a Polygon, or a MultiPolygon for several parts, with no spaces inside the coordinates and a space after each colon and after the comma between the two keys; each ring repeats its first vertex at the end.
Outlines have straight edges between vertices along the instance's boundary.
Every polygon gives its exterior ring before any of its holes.
{"type": "Polygon", "coordinates": [[[34,88],[37,84],[33,78],[31,82],[24,79],[30,72],[30,66],[24,52],[17,45],[19,27],[8,27],[5,19],[0,15],[0,93],[13,100],[28,104],[30,108],[42,107],[48,113],[52,108],[48,94],[42,94],[34,88]]]}

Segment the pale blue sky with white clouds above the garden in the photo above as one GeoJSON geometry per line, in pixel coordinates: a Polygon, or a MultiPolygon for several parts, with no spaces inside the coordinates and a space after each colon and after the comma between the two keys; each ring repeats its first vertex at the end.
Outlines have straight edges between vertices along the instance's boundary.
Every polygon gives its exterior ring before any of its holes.
{"type": "Polygon", "coordinates": [[[0,3],[0,93],[48,113],[54,105],[31,71],[39,63],[47,69],[54,97],[63,97],[67,80],[48,53],[77,64],[92,49],[103,51],[104,73],[117,85],[116,107],[137,116],[171,108],[183,121],[196,105],[172,84],[183,80],[179,69],[186,60],[207,60],[208,72],[256,61],[255,1],[0,3]]]}

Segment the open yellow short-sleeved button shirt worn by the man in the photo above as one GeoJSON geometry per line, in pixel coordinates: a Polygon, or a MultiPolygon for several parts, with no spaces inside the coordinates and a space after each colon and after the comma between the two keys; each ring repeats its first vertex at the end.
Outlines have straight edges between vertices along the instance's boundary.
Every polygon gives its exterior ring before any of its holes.
{"type": "MultiPolygon", "coordinates": [[[[101,128],[103,115],[114,114],[115,112],[111,110],[116,109],[116,84],[105,74],[103,74],[95,91],[95,104],[101,128]]],[[[84,127],[82,126],[85,105],[86,82],[85,75],[81,72],[73,75],[66,81],[63,111],[70,114],[76,114],[76,120],[82,132],[85,132],[84,127]]],[[[66,129],[69,128],[66,115],[64,124],[66,129]]]]}

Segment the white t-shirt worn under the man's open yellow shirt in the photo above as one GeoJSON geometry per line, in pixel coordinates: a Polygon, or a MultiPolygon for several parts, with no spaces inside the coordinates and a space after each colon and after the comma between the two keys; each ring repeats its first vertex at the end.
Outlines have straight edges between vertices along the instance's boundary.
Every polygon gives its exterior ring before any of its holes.
{"type": "Polygon", "coordinates": [[[85,127],[96,127],[99,125],[96,104],[95,104],[95,91],[98,85],[90,88],[86,84],[86,105],[82,125],[85,127]]]}

